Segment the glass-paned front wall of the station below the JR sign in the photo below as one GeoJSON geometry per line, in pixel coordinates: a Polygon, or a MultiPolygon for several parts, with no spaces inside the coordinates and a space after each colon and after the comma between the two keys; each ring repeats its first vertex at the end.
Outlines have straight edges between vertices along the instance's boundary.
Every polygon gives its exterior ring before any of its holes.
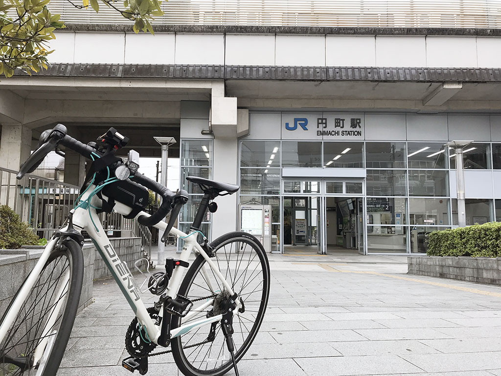
{"type": "MultiPolygon", "coordinates": [[[[325,116],[329,114],[324,115],[323,120],[335,124],[337,119],[325,116]]],[[[352,126],[357,125],[353,120],[357,118],[347,116],[345,131],[359,129],[352,126]]],[[[317,119],[310,120],[309,131],[317,132],[318,127],[317,119]]],[[[454,149],[444,146],[448,140],[384,141],[380,135],[375,136],[379,140],[358,141],[341,136],[331,140],[326,135],[323,139],[315,140],[311,139],[311,135],[300,139],[300,135],[306,135],[306,129],[303,133],[298,126],[298,130],[294,134],[298,139],[290,139],[291,134],[287,134],[287,140],[280,139],[280,135],[277,137],[277,133],[274,133],[275,140],[244,139],[238,143],[238,204],[271,205],[272,232],[277,239],[283,239],[284,208],[291,206],[291,196],[324,199],[349,198],[350,195],[362,197],[365,218],[361,242],[367,253],[426,252],[430,232],[457,226],[457,202],[455,194],[451,195],[455,189],[450,186],[451,182],[454,184],[451,171],[455,170],[456,155],[454,149]],[[284,173],[285,169],[290,168],[312,168],[326,172],[311,174],[313,177],[290,177],[295,175],[284,173]],[[344,176],[342,172],[339,175],[335,172],[343,168],[364,171],[364,177],[327,177],[344,176]],[[317,177],[319,175],[324,177],[317,177]]],[[[364,133],[364,136],[367,137],[367,134],[364,133]]],[[[270,138],[273,137],[270,135],[270,138]]],[[[284,129],[282,137],[285,137],[284,129]]],[[[471,139],[474,138],[473,135],[471,139]]],[[[401,139],[405,139],[405,135],[401,139]]],[[[182,181],[185,176],[193,174],[211,178],[210,139],[182,140],[180,155],[182,181]]],[[[495,184],[496,174],[501,179],[501,142],[472,142],[464,148],[463,166],[466,171],[490,171],[495,184]]],[[[192,220],[201,192],[190,184],[189,194],[190,205],[183,209],[181,224],[188,224],[192,220]]],[[[501,198],[466,199],[465,204],[467,225],[501,222],[501,198]]],[[[332,211],[333,207],[327,210],[332,211]]],[[[210,222],[209,214],[204,222],[208,229],[210,222]]],[[[311,222],[314,222],[313,218],[311,222]]],[[[335,225],[336,228],[344,226],[342,223],[335,225]]]]}

